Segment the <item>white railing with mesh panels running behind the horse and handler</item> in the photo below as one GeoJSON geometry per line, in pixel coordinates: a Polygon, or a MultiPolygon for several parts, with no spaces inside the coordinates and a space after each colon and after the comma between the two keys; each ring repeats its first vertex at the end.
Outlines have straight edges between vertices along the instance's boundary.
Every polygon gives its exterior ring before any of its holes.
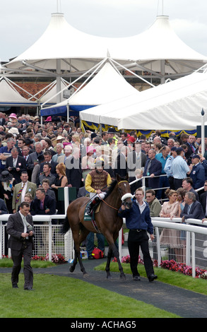
{"type": "MultiPolygon", "coordinates": [[[[69,206],[69,190],[64,188],[65,211],[69,206]]],[[[0,259],[6,252],[6,221],[9,215],[0,215],[0,259]]],[[[67,260],[73,259],[73,237],[71,230],[62,235],[61,223],[55,220],[64,220],[66,215],[34,215],[35,250],[34,256],[48,255],[52,261],[53,254],[62,254],[67,260]]],[[[207,222],[201,220],[185,220],[181,218],[152,218],[155,228],[155,240],[149,240],[152,259],[174,259],[179,263],[192,266],[195,277],[196,266],[207,268],[207,222]]],[[[125,223],[125,220],[124,220],[125,223]]],[[[119,231],[119,256],[122,259],[122,230],[119,231]]],[[[8,256],[10,252],[8,251],[8,256]]]]}

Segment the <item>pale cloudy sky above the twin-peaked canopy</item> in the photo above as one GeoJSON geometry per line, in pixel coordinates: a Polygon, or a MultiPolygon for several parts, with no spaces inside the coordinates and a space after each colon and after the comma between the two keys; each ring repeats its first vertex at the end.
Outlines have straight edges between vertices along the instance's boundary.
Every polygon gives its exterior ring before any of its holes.
{"type": "Polygon", "coordinates": [[[206,0],[0,0],[0,61],[36,42],[57,8],[74,28],[105,37],[137,35],[164,14],[189,47],[207,56],[206,0]]]}

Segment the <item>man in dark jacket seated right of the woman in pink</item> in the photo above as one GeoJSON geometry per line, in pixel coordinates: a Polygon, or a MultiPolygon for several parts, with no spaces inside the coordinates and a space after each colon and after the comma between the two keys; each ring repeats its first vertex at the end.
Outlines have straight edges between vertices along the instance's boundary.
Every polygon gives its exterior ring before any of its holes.
{"type": "Polygon", "coordinates": [[[194,193],[188,191],[184,196],[184,202],[184,209],[180,214],[182,222],[184,222],[185,219],[202,220],[205,218],[201,203],[196,200],[196,195],[194,193]]]}

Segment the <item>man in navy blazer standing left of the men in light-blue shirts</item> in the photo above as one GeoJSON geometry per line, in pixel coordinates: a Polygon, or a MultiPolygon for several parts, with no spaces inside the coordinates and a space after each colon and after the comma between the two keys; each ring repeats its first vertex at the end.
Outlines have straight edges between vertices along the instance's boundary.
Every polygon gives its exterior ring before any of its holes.
{"type": "Polygon", "coordinates": [[[155,159],[156,152],[153,149],[148,151],[148,160],[146,162],[143,177],[148,177],[146,179],[146,186],[151,189],[159,188],[160,177],[158,177],[162,172],[162,164],[159,160],[155,159]]]}

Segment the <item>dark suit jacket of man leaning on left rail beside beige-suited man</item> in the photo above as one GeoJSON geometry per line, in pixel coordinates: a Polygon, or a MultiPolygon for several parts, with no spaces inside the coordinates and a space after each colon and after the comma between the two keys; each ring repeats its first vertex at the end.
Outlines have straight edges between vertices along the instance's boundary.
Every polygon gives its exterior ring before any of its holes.
{"type": "Polygon", "coordinates": [[[40,209],[40,199],[35,198],[30,206],[31,215],[54,215],[56,213],[56,201],[54,198],[45,195],[44,209],[40,209]],[[49,213],[45,213],[46,208],[49,208],[49,213]]]}

